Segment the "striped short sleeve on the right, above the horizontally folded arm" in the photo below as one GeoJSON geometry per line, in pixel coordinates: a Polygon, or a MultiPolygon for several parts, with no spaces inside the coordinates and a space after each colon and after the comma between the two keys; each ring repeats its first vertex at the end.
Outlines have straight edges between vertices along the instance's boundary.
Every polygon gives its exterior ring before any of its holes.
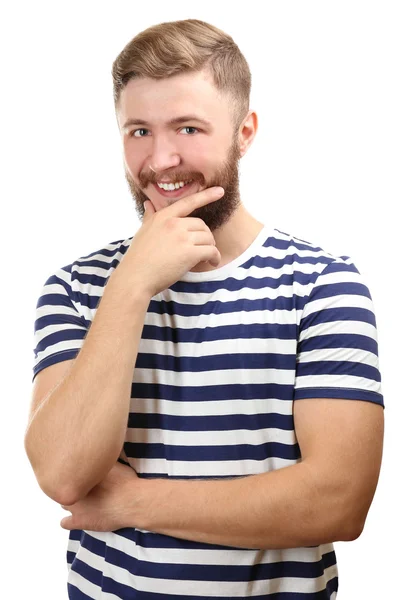
{"type": "Polygon", "coordinates": [[[345,398],[384,406],[371,294],[349,257],[318,275],[303,308],[294,400],[345,398]]]}

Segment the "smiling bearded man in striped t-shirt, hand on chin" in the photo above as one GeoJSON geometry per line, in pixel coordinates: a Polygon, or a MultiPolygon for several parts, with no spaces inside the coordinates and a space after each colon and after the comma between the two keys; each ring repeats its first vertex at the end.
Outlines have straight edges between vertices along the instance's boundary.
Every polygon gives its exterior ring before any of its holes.
{"type": "Polygon", "coordinates": [[[142,226],[44,284],[25,436],[71,513],[69,597],[336,598],[382,454],[368,288],[243,206],[257,116],[230,36],[162,23],[113,78],[142,226]]]}

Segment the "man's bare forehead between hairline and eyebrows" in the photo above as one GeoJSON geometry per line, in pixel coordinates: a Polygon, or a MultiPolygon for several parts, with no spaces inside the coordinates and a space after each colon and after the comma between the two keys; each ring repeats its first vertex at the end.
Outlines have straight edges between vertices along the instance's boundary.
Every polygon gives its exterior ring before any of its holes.
{"type": "Polygon", "coordinates": [[[166,79],[131,79],[121,92],[118,106],[120,127],[129,119],[162,125],[171,118],[196,114],[209,121],[229,122],[228,99],[204,72],[183,73],[166,79]]]}

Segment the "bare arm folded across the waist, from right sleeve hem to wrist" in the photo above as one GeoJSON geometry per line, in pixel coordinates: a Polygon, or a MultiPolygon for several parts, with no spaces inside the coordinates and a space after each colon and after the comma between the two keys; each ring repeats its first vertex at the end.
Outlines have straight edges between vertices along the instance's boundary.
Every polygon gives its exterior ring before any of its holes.
{"type": "Polygon", "coordinates": [[[142,479],[126,527],[239,548],[356,539],[379,477],[382,406],[296,400],[294,422],[299,463],[231,480],[142,479]]]}

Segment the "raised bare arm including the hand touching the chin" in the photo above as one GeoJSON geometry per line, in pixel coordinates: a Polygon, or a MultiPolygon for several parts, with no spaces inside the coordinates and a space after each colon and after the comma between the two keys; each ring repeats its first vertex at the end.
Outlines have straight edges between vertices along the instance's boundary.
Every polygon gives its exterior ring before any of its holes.
{"type": "Polygon", "coordinates": [[[223,192],[206,188],[158,213],[147,201],[142,227],[106,285],[82,348],[33,411],[25,449],[40,487],[58,503],[69,506],[86,496],[116,463],[150,300],[195,265],[218,266],[210,228],[189,215],[223,192]]]}

